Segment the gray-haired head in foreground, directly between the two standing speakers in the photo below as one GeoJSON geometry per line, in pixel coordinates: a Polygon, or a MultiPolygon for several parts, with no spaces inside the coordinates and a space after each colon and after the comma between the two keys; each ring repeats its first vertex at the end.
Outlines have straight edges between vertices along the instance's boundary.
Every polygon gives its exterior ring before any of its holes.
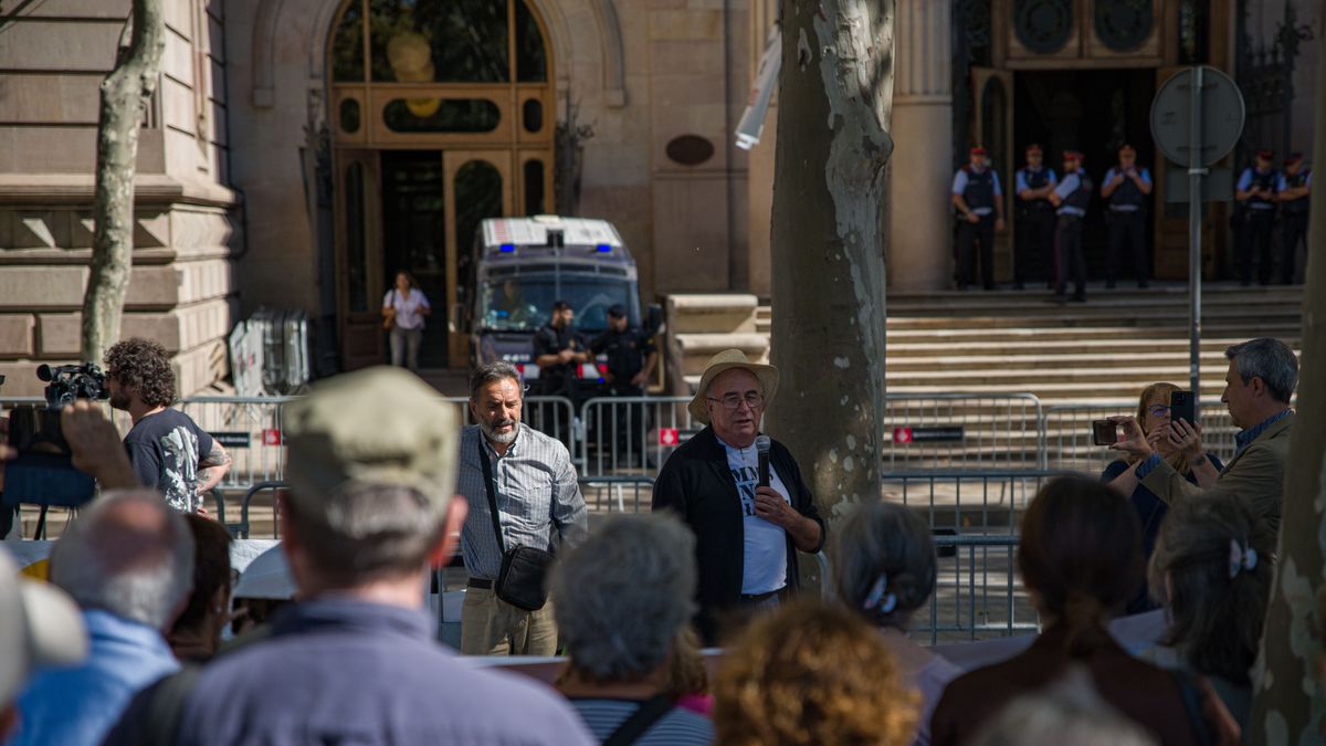
{"type": "Polygon", "coordinates": [[[695,613],[695,536],[667,515],[609,518],[553,569],[553,615],[572,670],[631,682],[668,657],[695,613]]]}

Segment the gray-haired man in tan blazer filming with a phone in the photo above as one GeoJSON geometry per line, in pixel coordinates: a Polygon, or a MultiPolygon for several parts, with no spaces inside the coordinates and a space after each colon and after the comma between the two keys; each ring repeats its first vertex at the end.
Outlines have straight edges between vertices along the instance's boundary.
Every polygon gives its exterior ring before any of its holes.
{"type": "MultiPolygon", "coordinates": [[[[1124,429],[1124,439],[1115,450],[1135,459],[1111,486],[1131,494],[1138,485],[1146,486],[1166,504],[1200,498],[1208,490],[1228,491],[1245,500],[1266,523],[1266,528],[1280,531],[1281,503],[1284,502],[1285,466],[1289,462],[1289,434],[1294,413],[1289,402],[1298,385],[1298,358],[1294,350],[1280,340],[1260,337],[1233,345],[1225,350],[1229,370],[1225,373],[1225,392],[1220,401],[1229,408],[1229,415],[1240,431],[1235,435],[1237,447],[1233,458],[1220,470],[1213,485],[1189,483],[1183,474],[1166,462],[1158,446],[1148,439],[1136,418],[1123,417],[1118,422],[1124,429]]],[[[1200,430],[1185,418],[1171,417],[1162,426],[1171,447],[1200,454],[1200,430]]]]}

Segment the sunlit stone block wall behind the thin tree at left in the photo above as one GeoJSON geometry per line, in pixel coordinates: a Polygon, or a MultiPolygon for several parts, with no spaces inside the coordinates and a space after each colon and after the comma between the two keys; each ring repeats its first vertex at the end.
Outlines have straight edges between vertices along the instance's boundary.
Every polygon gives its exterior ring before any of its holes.
{"type": "MultiPolygon", "coordinates": [[[[228,373],[240,244],[227,182],[221,0],[166,0],[158,93],[141,130],[122,336],[174,356],[182,393],[228,373]]],[[[0,396],[76,362],[91,258],[98,85],[127,0],[48,0],[0,32],[0,396]]],[[[99,362],[99,361],[98,361],[99,362]]]]}

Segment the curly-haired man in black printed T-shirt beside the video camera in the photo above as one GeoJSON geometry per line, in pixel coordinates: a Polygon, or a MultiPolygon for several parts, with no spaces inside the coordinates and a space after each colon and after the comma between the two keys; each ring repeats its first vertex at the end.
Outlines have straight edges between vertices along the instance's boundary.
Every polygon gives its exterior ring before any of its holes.
{"type": "Polygon", "coordinates": [[[123,340],[106,352],[110,406],[129,413],[134,427],[125,447],[146,487],[166,495],[171,507],[207,512],[203,496],[231,466],[231,455],[175,402],[175,373],[166,348],[142,337],[123,340]]]}

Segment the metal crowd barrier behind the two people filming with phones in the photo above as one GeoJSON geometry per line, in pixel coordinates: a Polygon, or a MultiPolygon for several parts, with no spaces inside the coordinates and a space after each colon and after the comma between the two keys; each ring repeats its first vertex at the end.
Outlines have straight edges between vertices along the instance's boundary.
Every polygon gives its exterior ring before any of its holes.
{"type": "MultiPolygon", "coordinates": [[[[1124,454],[1097,446],[1091,422],[1124,414],[1135,417],[1136,413],[1138,400],[1046,408],[1041,429],[1045,431],[1048,466],[1101,474],[1111,461],[1124,454]]],[[[1203,400],[1199,419],[1203,447],[1228,463],[1235,455],[1235,433],[1238,431],[1229,410],[1219,400],[1203,400]]]]}

